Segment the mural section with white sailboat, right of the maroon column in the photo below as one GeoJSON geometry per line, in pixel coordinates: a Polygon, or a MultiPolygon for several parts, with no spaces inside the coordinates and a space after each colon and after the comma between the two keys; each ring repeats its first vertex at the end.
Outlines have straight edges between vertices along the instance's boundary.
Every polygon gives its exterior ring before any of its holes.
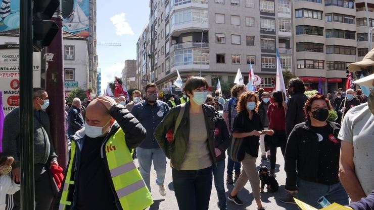
{"type": "Polygon", "coordinates": [[[89,0],[62,0],[64,31],[81,37],[89,36],[89,0]]]}

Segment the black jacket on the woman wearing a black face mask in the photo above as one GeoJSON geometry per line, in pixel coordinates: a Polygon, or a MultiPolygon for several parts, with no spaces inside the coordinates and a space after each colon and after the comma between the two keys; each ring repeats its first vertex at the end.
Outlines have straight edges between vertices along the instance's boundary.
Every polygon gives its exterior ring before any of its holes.
{"type": "MultiPolygon", "coordinates": [[[[335,138],[338,139],[340,125],[335,122],[327,122],[333,128],[335,138]]],[[[309,120],[295,125],[288,138],[285,153],[287,174],[285,189],[287,190],[297,189],[297,177],[310,182],[318,180],[318,136],[310,126],[309,120]]]]}

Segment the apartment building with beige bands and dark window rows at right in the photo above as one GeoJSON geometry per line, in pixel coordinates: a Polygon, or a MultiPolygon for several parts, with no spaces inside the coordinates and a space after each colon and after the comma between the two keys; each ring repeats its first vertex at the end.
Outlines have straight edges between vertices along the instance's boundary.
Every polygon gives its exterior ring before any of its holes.
{"type": "Polygon", "coordinates": [[[364,0],[293,2],[295,75],[307,87],[316,89],[321,76],[325,90],[345,88],[347,66],[371,49],[373,3],[366,16],[364,0]]]}

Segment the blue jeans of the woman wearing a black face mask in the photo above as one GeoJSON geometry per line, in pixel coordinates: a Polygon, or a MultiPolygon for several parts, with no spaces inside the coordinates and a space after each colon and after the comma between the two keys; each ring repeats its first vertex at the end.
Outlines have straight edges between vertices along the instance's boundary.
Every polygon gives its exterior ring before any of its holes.
{"type": "Polygon", "coordinates": [[[297,178],[297,186],[299,191],[296,194],[297,198],[315,208],[320,208],[317,200],[322,196],[330,203],[336,202],[341,205],[348,205],[349,203],[347,192],[340,182],[326,185],[297,178]]]}

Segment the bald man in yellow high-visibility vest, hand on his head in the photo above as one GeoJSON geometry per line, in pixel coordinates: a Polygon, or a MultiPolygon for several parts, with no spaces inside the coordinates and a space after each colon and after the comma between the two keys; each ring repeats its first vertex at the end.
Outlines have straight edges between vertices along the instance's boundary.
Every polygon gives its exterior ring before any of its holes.
{"type": "Polygon", "coordinates": [[[55,210],[141,210],[150,206],[151,194],[131,156],[145,137],[142,124],[114,99],[99,96],[92,101],[84,128],[73,136],[55,210]]]}

